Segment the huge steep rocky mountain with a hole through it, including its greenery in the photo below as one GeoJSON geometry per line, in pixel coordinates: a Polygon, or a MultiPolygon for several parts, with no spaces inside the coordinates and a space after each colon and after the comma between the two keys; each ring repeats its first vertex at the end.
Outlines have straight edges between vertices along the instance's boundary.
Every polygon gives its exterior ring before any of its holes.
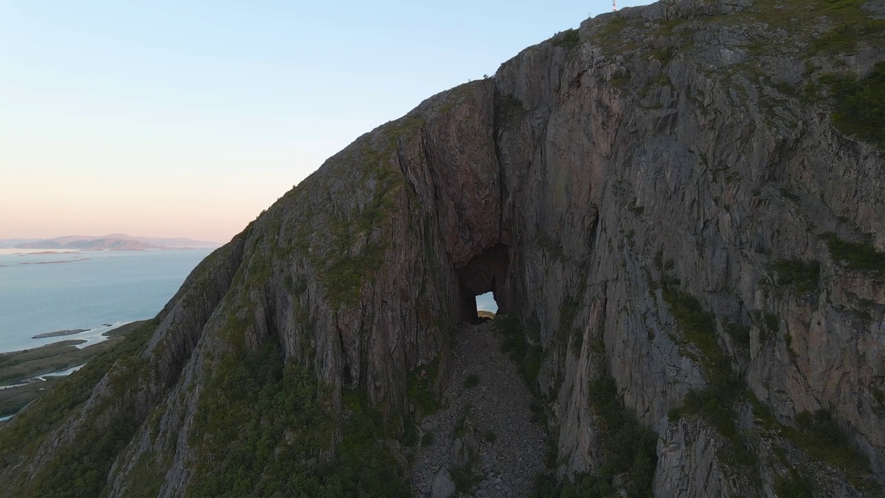
{"type": "Polygon", "coordinates": [[[881,495],[883,15],[665,0],[428,98],[0,429],[0,479],[11,496],[502,496],[529,478],[535,496],[881,495]],[[459,380],[488,291],[512,359],[493,366],[525,385],[459,380]],[[464,393],[502,402],[453,411],[464,393]],[[519,407],[546,440],[477,429],[519,407]],[[498,479],[525,447],[546,470],[498,479]]]}

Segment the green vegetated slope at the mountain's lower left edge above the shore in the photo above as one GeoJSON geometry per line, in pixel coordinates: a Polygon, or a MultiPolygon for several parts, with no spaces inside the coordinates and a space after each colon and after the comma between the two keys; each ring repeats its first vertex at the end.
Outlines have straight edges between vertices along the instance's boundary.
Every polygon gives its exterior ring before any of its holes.
{"type": "MultiPolygon", "coordinates": [[[[52,389],[49,396],[35,401],[34,406],[16,416],[0,431],[0,468],[30,458],[53,429],[76,413],[114,362],[115,375],[108,379],[109,389],[118,393],[116,404],[133,393],[146,363],[138,353],[146,344],[157,323],[142,323],[118,344],[96,354],[81,370],[52,389]]],[[[135,433],[137,421],[124,410],[112,409],[112,401],[104,401],[94,409],[93,416],[81,425],[70,444],[58,447],[42,465],[27,487],[12,496],[74,498],[98,496],[105,478],[119,451],[135,433]],[[74,478],[72,479],[72,476],[74,478]]],[[[22,476],[24,477],[24,476],[22,476]]],[[[12,483],[10,483],[12,484],[12,483]]],[[[21,484],[21,483],[19,483],[21,484]]]]}

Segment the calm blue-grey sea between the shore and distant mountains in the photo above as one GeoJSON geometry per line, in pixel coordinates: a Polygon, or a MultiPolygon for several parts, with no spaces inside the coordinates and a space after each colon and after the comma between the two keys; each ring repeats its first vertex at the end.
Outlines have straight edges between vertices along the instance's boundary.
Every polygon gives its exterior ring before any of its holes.
{"type": "Polygon", "coordinates": [[[115,326],[151,318],[211,251],[22,254],[0,249],[0,353],[65,339],[98,342],[115,326]],[[71,329],[89,331],[32,338],[71,329]]]}

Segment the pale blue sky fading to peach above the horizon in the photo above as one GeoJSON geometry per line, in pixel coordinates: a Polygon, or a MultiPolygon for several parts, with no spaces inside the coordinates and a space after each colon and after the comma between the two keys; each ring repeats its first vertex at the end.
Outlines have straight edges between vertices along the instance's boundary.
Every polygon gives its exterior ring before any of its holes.
{"type": "Polygon", "coordinates": [[[0,3],[0,238],[227,240],[362,133],[609,11],[0,3]]]}

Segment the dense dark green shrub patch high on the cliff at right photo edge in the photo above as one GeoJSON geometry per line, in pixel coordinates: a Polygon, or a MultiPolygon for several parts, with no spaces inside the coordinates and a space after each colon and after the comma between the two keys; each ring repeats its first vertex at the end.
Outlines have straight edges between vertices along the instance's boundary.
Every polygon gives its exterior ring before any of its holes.
{"type": "MultiPolygon", "coordinates": [[[[885,20],[880,30],[885,33],[885,20]]],[[[833,123],[843,133],[885,148],[885,62],[873,67],[863,79],[849,74],[827,74],[834,99],[833,123]]]]}

